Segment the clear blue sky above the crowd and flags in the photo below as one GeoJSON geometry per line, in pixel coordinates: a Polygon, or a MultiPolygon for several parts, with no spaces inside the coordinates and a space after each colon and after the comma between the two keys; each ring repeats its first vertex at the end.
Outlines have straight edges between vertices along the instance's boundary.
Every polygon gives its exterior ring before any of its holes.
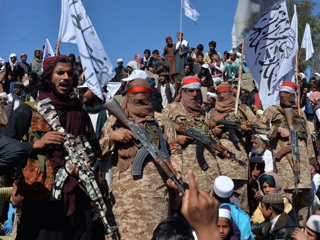
{"type": "MultiPolygon", "coordinates": [[[[176,41],[180,31],[180,0],[82,0],[90,20],[98,33],[114,67],[118,58],[124,64],[134,60],[134,54],[143,57],[145,49],[165,46],[165,37],[176,41]]],[[[216,41],[219,52],[230,50],[231,29],[237,1],[191,0],[199,12],[197,27],[182,10],[182,32],[190,47],[216,41]]],[[[318,5],[315,12],[320,12],[318,5]]],[[[0,0],[2,19],[0,57],[6,61],[11,53],[27,53],[29,63],[33,51],[41,48],[48,38],[52,49],[57,42],[61,14],[59,0],[0,0]],[[12,11],[14,10],[14,11],[12,11]]],[[[301,33],[303,34],[303,33],[301,33]]],[[[79,55],[76,44],[61,43],[60,53],[79,55]]]]}

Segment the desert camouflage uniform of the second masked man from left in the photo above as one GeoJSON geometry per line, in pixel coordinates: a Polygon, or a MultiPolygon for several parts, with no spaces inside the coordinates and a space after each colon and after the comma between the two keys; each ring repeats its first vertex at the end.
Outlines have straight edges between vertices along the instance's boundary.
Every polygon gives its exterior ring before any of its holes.
{"type": "MultiPolygon", "coordinates": [[[[181,102],[173,102],[164,108],[163,114],[168,116],[172,121],[182,126],[188,126],[196,129],[206,136],[210,136],[209,122],[201,117],[192,117],[183,107],[181,102]]],[[[196,145],[189,144],[182,149],[183,152],[183,169],[182,178],[188,182],[188,169],[192,169],[196,176],[196,181],[199,188],[205,189],[208,193],[213,190],[214,180],[220,176],[219,167],[217,164],[215,152],[212,148],[204,147],[204,159],[209,165],[206,171],[203,171],[196,158],[196,145]]]]}

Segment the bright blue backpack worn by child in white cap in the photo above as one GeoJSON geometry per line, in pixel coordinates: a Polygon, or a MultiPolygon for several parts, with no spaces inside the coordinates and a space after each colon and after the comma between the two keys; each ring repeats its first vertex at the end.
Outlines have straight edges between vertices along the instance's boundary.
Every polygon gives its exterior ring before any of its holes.
{"type": "Polygon", "coordinates": [[[241,232],[240,240],[254,240],[254,236],[251,231],[249,215],[242,211],[240,208],[238,208],[234,203],[236,202],[231,202],[230,204],[223,203],[220,205],[220,207],[226,205],[230,207],[231,218],[236,223],[237,227],[241,232]]]}

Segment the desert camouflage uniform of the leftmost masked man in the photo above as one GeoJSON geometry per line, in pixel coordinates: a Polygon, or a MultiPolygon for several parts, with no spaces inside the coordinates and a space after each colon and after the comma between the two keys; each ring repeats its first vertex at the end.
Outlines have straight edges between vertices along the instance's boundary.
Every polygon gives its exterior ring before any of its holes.
{"type": "MultiPolygon", "coordinates": [[[[178,137],[174,127],[163,114],[155,113],[154,117],[163,130],[164,137],[167,137],[172,166],[181,172],[182,151],[180,145],[175,144],[178,137]]],[[[109,136],[116,129],[117,123],[116,118],[111,116],[102,129],[100,146],[105,158],[115,149],[115,145],[109,146],[109,136]]],[[[118,237],[120,235],[121,239],[151,239],[158,223],[169,215],[167,177],[156,167],[157,164],[150,155],[142,164],[141,176],[132,176],[130,166],[125,172],[120,172],[117,158],[118,154],[114,151],[112,183],[107,203],[108,210],[112,210],[114,216],[107,216],[108,222],[119,226],[118,237]]]]}

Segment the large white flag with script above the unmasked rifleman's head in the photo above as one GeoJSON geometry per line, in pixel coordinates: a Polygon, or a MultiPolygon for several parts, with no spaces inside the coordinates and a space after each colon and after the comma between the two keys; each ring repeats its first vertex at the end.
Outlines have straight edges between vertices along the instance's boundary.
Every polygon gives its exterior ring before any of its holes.
{"type": "Polygon", "coordinates": [[[103,99],[102,87],[115,76],[115,70],[81,0],[61,0],[58,42],[78,45],[85,81],[103,99]]]}

